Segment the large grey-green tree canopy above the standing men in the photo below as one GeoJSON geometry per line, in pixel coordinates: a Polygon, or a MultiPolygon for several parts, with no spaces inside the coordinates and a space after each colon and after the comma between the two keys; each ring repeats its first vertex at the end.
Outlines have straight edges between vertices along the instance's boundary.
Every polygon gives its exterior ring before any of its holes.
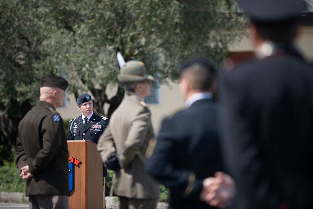
{"type": "Polygon", "coordinates": [[[243,26],[229,0],[2,0],[0,8],[2,111],[28,98],[34,105],[45,73],[66,76],[68,93],[90,90],[110,103],[117,51],[161,81],[176,80],[187,58],[220,63],[243,26]]]}

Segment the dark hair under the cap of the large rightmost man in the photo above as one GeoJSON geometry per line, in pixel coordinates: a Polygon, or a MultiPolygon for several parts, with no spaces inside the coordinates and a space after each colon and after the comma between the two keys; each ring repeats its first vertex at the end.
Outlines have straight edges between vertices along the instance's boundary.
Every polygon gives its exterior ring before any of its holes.
{"type": "Polygon", "coordinates": [[[258,22],[251,21],[258,34],[264,40],[290,43],[295,38],[297,31],[297,20],[289,19],[279,22],[258,22]]]}

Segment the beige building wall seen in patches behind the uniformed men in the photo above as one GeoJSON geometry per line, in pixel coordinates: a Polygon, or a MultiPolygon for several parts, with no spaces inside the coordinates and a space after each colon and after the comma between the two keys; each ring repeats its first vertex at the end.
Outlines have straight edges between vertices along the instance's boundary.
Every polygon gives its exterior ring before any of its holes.
{"type": "MultiPolygon", "coordinates": [[[[297,41],[299,49],[303,52],[305,58],[313,62],[313,27],[302,27],[300,29],[300,36],[297,41]]],[[[253,46],[250,43],[249,38],[243,32],[243,39],[239,43],[233,44],[230,47],[231,52],[244,52],[252,51],[253,46]]],[[[116,87],[111,86],[107,88],[108,97],[111,98],[116,93],[116,87]]],[[[57,109],[60,112],[62,118],[75,118],[81,114],[80,110],[76,105],[76,98],[74,95],[69,97],[67,107],[60,107],[57,109]]],[[[182,105],[183,99],[179,92],[177,83],[170,82],[167,85],[161,85],[161,103],[158,105],[149,105],[152,114],[152,124],[156,131],[159,130],[160,124],[165,113],[174,107],[182,105]]],[[[105,110],[108,109],[108,105],[105,105],[105,110]]]]}

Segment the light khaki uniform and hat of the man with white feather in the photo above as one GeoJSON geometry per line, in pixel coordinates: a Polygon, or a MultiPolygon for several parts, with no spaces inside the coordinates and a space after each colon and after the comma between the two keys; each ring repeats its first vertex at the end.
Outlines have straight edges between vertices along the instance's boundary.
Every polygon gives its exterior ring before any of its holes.
{"type": "MultiPolygon", "coordinates": [[[[153,77],[146,73],[142,62],[129,61],[121,68],[119,80],[135,83],[153,80],[153,77]]],[[[112,153],[118,155],[121,169],[115,170],[112,192],[120,197],[120,209],[156,208],[159,183],[145,171],[145,155],[149,152],[150,141],[154,140],[151,113],[146,103],[126,93],[98,141],[103,162],[112,153]]]]}

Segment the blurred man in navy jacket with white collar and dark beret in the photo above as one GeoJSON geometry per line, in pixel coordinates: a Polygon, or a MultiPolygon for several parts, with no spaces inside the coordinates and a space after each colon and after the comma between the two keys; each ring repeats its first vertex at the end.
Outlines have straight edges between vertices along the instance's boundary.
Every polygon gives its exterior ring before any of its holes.
{"type": "MultiPolygon", "coordinates": [[[[212,99],[216,86],[216,72],[208,60],[187,62],[180,78],[185,107],[163,120],[156,147],[147,161],[148,172],[170,188],[171,209],[213,208],[206,203],[206,195],[214,175],[230,180],[234,194],[232,178],[216,173],[224,170],[218,134],[220,108],[212,99]]],[[[224,208],[228,201],[213,205],[224,208]]]]}

